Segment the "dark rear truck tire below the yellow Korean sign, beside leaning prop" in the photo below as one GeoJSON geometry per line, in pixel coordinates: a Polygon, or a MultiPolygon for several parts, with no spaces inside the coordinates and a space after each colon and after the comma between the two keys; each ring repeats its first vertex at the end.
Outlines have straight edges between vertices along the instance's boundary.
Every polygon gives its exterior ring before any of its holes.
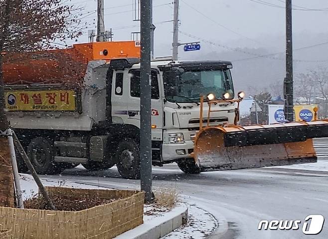
{"type": "Polygon", "coordinates": [[[63,170],[54,162],[53,149],[45,138],[34,138],[27,147],[27,156],[38,174],[58,174],[63,170]]]}

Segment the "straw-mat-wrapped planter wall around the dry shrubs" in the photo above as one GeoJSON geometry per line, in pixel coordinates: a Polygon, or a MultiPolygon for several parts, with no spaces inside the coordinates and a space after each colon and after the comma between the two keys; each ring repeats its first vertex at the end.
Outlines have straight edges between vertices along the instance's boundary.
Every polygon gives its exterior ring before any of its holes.
{"type": "Polygon", "coordinates": [[[85,210],[79,207],[81,211],[76,212],[0,207],[0,239],[111,239],[143,224],[143,192],[58,187],[46,190],[50,198],[62,198],[63,202],[92,198],[110,203],[85,210]]]}

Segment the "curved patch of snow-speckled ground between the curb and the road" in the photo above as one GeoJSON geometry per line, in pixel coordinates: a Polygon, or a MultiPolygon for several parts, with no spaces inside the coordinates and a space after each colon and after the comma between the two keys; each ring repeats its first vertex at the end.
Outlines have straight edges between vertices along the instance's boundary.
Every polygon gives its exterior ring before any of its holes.
{"type": "Polygon", "coordinates": [[[195,205],[188,206],[188,222],[163,239],[204,239],[218,227],[214,216],[195,205]]]}

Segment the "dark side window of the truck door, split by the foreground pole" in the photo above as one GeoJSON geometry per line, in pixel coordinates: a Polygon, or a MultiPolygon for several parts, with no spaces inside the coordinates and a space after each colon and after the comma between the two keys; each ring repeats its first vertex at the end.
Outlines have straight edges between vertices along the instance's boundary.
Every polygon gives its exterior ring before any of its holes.
{"type": "MultiPolygon", "coordinates": [[[[140,98],[140,70],[130,70],[130,95],[140,98]]],[[[159,81],[157,71],[152,70],[152,99],[160,98],[159,81]]]]}

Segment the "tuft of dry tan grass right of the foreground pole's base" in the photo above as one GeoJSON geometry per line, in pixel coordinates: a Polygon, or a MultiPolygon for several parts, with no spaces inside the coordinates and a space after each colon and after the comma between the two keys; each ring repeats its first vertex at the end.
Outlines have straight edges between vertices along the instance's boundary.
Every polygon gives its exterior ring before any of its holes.
{"type": "Polygon", "coordinates": [[[173,208],[179,198],[175,187],[155,189],[154,194],[156,206],[168,209],[173,208]]]}

